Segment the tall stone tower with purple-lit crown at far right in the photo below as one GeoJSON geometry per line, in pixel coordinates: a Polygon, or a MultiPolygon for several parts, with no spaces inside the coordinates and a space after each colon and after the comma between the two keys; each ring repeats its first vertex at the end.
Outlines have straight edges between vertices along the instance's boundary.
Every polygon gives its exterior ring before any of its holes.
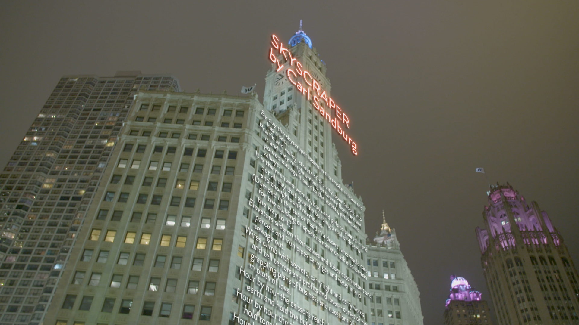
{"type": "Polygon", "coordinates": [[[547,212],[508,183],[488,200],[477,237],[499,324],[579,324],[577,270],[547,212]]]}

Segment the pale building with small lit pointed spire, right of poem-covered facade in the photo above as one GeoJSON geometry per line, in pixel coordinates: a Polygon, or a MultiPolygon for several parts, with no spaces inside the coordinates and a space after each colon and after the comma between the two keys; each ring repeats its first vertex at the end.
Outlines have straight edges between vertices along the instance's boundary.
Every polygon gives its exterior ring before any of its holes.
{"type": "Polygon", "coordinates": [[[420,293],[410,268],[400,250],[394,228],[382,212],[380,233],[368,241],[368,289],[372,325],[422,325],[420,293]]]}

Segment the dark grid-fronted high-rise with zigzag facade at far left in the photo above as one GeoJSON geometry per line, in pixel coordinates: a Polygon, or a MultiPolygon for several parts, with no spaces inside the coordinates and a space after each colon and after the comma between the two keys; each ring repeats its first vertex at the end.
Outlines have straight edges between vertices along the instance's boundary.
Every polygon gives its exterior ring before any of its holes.
{"type": "Polygon", "coordinates": [[[138,90],[170,75],[64,76],[0,173],[0,324],[39,324],[138,90]]]}

